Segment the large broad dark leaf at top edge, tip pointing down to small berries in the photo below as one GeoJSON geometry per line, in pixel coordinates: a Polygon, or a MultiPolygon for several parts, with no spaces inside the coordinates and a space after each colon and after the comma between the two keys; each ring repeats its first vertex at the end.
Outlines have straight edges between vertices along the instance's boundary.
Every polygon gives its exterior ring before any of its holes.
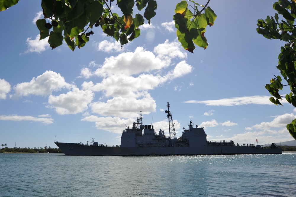
{"type": "Polygon", "coordinates": [[[94,25],[99,17],[102,16],[103,10],[104,7],[99,1],[94,1],[86,7],[86,16],[89,18],[89,27],[94,25]]]}

